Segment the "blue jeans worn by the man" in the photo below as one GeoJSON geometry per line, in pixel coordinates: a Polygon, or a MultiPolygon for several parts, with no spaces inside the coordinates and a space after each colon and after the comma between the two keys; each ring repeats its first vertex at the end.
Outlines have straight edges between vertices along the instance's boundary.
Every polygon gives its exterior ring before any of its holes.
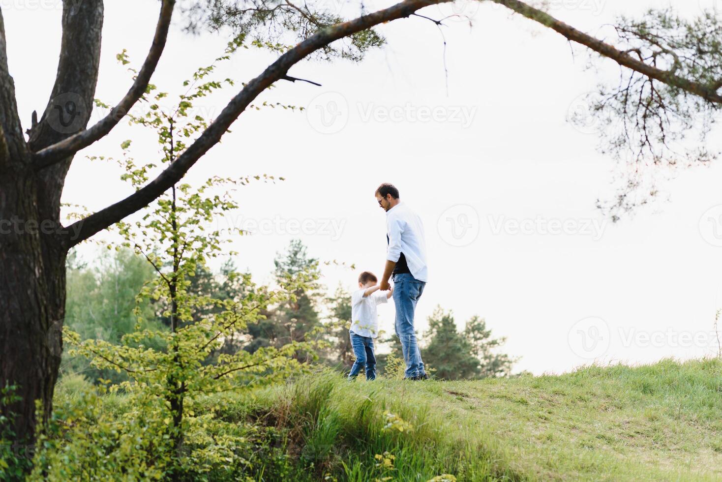
{"type": "Polygon", "coordinates": [[[393,304],[396,305],[396,336],[401,341],[406,372],[404,377],[412,378],[426,374],[424,362],[414,331],[414,311],[416,302],[424,292],[425,281],[419,281],[411,273],[399,273],[393,276],[393,304]]]}

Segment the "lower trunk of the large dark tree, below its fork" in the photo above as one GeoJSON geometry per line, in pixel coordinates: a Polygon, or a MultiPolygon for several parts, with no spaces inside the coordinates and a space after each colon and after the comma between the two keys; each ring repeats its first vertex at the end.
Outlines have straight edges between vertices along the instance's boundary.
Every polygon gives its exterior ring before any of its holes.
{"type": "Polygon", "coordinates": [[[34,175],[0,179],[0,193],[0,383],[21,397],[1,411],[13,420],[14,452],[30,456],[35,400],[49,416],[60,364],[65,249],[57,220],[40,214],[34,175]]]}

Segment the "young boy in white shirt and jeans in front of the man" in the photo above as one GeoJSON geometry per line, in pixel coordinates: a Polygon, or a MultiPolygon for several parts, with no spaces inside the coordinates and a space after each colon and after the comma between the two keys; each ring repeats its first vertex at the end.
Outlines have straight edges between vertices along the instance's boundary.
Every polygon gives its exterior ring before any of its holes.
{"type": "Polygon", "coordinates": [[[388,302],[393,288],[388,292],[378,292],[380,286],[373,273],[364,271],[359,276],[359,290],[351,295],[351,346],[356,362],[351,367],[349,379],[356,378],[366,366],[366,380],[376,377],[376,357],[373,354],[373,339],[378,336],[378,318],[376,306],[388,302]]]}

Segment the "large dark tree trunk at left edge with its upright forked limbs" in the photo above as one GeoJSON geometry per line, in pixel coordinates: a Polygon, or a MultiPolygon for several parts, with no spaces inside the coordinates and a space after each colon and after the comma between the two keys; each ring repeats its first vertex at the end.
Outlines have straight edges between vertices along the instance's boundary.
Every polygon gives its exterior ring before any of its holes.
{"type": "Polygon", "coordinates": [[[73,233],[60,223],[60,198],[72,157],[38,170],[32,152],[81,131],[90,120],[100,63],[103,0],[66,0],[51,100],[30,139],[20,127],[0,13],[0,387],[15,385],[15,451],[35,441],[35,403],[51,415],[65,315],[65,257],[73,233]]]}

